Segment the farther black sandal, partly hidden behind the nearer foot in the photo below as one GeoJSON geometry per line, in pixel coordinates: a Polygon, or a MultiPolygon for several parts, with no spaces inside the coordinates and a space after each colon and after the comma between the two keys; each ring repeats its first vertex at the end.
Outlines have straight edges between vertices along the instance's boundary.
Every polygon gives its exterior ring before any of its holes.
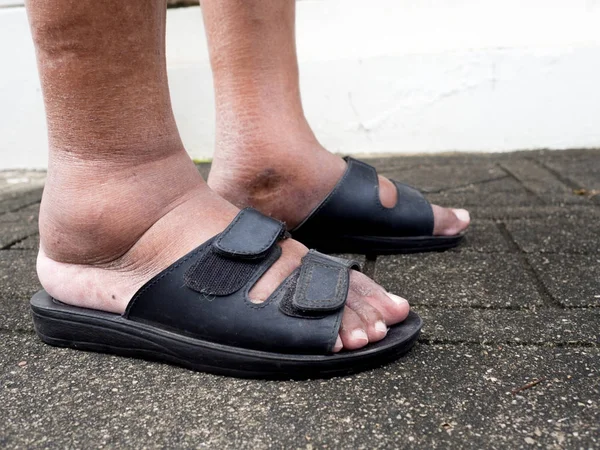
{"type": "Polygon", "coordinates": [[[456,247],[464,234],[433,236],[433,210],[416,189],[393,181],[398,202],[379,200],[374,167],[346,157],[348,168],[338,184],[304,221],[291,230],[294,239],[326,253],[395,254],[456,247]]]}

